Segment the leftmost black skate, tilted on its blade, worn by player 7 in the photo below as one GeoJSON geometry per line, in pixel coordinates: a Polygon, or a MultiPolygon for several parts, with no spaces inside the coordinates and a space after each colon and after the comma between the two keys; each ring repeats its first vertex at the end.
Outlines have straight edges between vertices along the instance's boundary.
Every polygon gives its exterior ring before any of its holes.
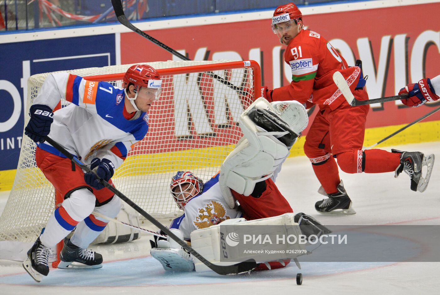
{"type": "Polygon", "coordinates": [[[44,246],[38,238],[28,251],[26,260],[23,261],[23,268],[37,283],[49,273],[49,254],[51,249],[44,246]]]}

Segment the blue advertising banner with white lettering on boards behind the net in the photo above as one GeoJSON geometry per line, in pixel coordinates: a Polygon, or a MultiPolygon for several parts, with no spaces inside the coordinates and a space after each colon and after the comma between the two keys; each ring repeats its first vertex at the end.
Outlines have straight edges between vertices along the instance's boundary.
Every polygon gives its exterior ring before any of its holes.
{"type": "Polygon", "coordinates": [[[114,65],[115,35],[0,44],[0,171],[16,169],[29,76],[114,65]]]}

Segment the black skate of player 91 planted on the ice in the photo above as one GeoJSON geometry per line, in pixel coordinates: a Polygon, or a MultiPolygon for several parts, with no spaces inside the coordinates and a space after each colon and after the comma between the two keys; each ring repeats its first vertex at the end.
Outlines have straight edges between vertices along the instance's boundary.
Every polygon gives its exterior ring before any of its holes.
{"type": "Polygon", "coordinates": [[[339,183],[337,186],[337,193],[326,194],[323,187],[320,187],[318,192],[326,195],[328,198],[315,203],[315,209],[322,214],[345,215],[356,214],[352,208],[352,200],[347,195],[344,188],[344,183],[339,183]]]}

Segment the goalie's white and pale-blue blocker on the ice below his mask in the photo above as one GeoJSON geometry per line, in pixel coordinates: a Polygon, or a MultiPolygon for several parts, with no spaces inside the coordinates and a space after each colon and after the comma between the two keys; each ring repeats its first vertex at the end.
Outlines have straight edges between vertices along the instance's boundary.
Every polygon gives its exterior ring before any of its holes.
{"type": "MultiPolygon", "coordinates": [[[[183,239],[183,233],[171,228],[170,231],[178,238],[183,239]]],[[[194,270],[194,261],[191,254],[187,253],[173,239],[158,240],[158,247],[151,248],[151,256],[158,260],[166,271],[186,271],[194,270]]]]}

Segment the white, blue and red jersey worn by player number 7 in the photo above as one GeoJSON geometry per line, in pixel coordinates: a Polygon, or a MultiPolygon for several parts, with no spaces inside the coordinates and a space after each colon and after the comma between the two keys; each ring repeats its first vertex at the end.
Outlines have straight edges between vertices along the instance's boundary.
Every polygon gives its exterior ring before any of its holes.
{"type": "MultiPolygon", "coordinates": [[[[107,82],[92,82],[69,73],[52,73],[44,81],[34,105],[54,109],[61,98],[71,104],[54,112],[49,137],[86,164],[106,158],[119,167],[132,146],[148,131],[148,117],[138,112],[132,119],[123,115],[125,93],[107,82]]],[[[62,156],[47,143],[41,149],[62,156]]]]}

